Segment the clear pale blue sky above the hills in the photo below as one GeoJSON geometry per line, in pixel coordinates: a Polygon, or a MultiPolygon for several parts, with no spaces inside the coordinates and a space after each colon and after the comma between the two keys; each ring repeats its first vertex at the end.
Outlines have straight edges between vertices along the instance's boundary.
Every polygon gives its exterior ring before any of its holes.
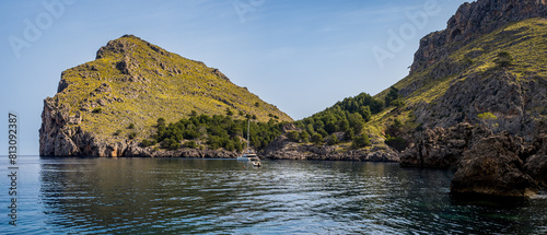
{"type": "Polygon", "coordinates": [[[408,74],[422,36],[463,0],[2,0],[0,155],[8,114],[20,154],[38,154],[43,99],[63,70],[133,34],[218,68],[293,119],[408,74]]]}

